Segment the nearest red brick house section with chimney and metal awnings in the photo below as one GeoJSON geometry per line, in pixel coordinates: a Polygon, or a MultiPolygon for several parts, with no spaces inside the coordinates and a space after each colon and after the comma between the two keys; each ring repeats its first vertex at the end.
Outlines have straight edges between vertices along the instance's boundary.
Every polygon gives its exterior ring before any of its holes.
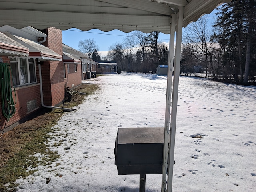
{"type": "MultiPolygon", "coordinates": [[[[70,88],[81,84],[81,59],[63,50],[60,29],[0,27],[0,62],[10,63],[14,102],[16,98],[15,114],[6,127],[14,127],[42,106],[59,106],[64,100],[65,84],[70,88]]],[[[2,130],[5,126],[2,100],[0,119],[2,130]]]]}

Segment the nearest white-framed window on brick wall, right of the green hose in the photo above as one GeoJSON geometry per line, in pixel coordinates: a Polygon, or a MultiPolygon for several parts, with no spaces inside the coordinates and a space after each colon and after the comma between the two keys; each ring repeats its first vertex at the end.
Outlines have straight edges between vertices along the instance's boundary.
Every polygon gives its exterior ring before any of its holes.
{"type": "Polygon", "coordinates": [[[36,65],[33,58],[10,58],[14,85],[36,82],[36,65]]]}

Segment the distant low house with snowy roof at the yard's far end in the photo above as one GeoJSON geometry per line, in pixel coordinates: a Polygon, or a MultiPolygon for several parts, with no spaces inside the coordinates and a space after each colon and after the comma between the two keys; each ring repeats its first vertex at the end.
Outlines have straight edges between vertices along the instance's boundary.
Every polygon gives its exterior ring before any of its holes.
{"type": "Polygon", "coordinates": [[[116,61],[97,61],[98,67],[96,72],[98,74],[111,74],[117,72],[116,61]]]}

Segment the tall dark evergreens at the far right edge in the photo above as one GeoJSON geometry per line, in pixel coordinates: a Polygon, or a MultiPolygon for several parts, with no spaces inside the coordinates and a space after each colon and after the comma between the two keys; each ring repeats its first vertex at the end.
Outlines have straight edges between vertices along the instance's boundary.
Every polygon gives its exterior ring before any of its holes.
{"type": "Polygon", "coordinates": [[[251,51],[255,42],[255,6],[255,0],[233,0],[217,8],[218,19],[214,27],[218,29],[218,34],[214,38],[218,39],[223,51],[226,80],[228,76],[234,76],[238,81],[239,75],[241,83],[248,83],[249,64],[255,58],[255,52],[251,51]]]}

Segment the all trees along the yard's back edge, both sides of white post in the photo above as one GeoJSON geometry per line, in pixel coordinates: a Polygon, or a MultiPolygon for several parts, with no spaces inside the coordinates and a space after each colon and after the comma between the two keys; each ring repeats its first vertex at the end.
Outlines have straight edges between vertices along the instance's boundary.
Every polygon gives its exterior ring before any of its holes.
{"type": "MultiPolygon", "coordinates": [[[[248,84],[256,82],[256,1],[233,0],[217,8],[213,26],[202,17],[184,29],[180,74],[248,84]]],[[[101,58],[93,39],[80,41],[80,51],[90,59],[115,60],[121,71],[156,72],[168,65],[168,47],[158,39],[159,31],[134,31],[109,47],[101,58]]]]}

